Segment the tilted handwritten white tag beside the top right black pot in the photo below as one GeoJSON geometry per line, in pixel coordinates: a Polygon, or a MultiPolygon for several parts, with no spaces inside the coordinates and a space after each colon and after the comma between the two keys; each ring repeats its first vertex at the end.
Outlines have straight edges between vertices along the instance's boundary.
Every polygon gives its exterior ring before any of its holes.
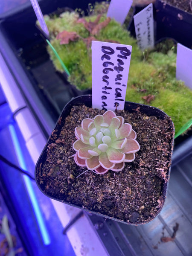
{"type": "Polygon", "coordinates": [[[153,4],[134,15],[137,44],[141,50],[154,47],[153,4]]]}

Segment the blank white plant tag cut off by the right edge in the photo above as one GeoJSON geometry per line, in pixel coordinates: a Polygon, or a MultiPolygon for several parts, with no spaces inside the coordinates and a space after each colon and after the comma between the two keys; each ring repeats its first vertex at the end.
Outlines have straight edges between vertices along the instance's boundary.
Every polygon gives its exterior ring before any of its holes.
{"type": "Polygon", "coordinates": [[[192,50],[177,44],[176,78],[192,89],[192,50]]]}

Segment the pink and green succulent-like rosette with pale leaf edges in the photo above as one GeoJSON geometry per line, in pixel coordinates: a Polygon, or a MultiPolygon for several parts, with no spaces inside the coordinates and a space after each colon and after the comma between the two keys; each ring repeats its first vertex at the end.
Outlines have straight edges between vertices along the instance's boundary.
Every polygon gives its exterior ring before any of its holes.
{"type": "Polygon", "coordinates": [[[122,171],[125,162],[134,161],[135,152],[140,150],[132,126],[111,110],[83,119],[81,126],[75,128],[75,135],[76,164],[98,174],[122,171]]]}

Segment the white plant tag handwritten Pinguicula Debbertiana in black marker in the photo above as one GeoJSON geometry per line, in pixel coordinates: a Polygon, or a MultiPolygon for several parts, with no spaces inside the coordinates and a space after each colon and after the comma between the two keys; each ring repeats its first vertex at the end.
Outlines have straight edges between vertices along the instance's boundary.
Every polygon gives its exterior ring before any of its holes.
{"type": "Polygon", "coordinates": [[[123,110],[132,46],[92,41],[92,105],[123,110]]]}

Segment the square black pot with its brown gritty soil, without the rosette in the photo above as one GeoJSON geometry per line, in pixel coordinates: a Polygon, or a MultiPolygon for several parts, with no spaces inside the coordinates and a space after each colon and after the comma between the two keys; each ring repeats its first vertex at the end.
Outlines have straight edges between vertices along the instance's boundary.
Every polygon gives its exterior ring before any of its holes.
{"type": "Polygon", "coordinates": [[[148,223],[166,198],[175,132],[172,120],[157,108],[125,102],[124,111],[116,115],[132,125],[140,150],[122,171],[99,175],[84,172],[86,168],[77,166],[73,157],[75,127],[82,119],[105,112],[91,106],[92,96],[84,95],[64,107],[35,167],[38,187],[49,198],[106,218],[131,225],[148,223]]]}

